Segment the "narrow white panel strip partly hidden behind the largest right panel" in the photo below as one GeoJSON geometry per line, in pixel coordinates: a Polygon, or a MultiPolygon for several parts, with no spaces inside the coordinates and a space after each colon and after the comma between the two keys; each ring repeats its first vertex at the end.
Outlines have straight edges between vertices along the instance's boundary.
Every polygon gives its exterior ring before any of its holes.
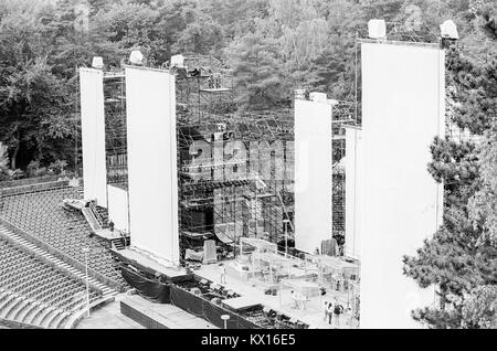
{"type": "Polygon", "coordinates": [[[362,199],[362,189],[358,185],[364,185],[359,182],[360,174],[357,172],[363,170],[363,149],[362,130],[356,127],[346,128],[346,237],[345,254],[346,256],[360,259],[361,253],[361,233],[357,223],[361,222],[361,211],[359,205],[362,199]]]}

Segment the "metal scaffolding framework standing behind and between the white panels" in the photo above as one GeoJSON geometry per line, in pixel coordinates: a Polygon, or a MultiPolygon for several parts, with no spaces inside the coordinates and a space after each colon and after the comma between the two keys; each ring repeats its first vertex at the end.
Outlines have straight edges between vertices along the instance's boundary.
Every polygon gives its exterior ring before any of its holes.
{"type": "MultiPolygon", "coordinates": [[[[194,141],[212,142],[220,128],[224,141],[294,141],[293,108],[262,111],[236,111],[233,105],[232,72],[209,56],[186,59],[186,68],[177,71],[177,138],[181,252],[199,248],[192,237],[222,237],[236,243],[240,236],[261,237],[283,243],[292,241],[294,193],[293,179],[276,179],[271,173],[247,172],[235,180],[199,180],[191,177],[190,146],[194,141]],[[192,72],[194,74],[192,74],[192,72]],[[213,86],[213,77],[218,85],[213,86]],[[219,85],[221,82],[221,86],[219,85]]],[[[106,115],[107,183],[127,187],[126,87],[124,71],[104,75],[106,115]]],[[[339,161],[345,156],[345,125],[357,125],[356,104],[337,102],[334,106],[334,236],[345,236],[345,172],[339,161]]],[[[330,117],[331,118],[331,117],[330,117]]],[[[293,148],[287,148],[284,167],[293,168],[293,148]]],[[[274,152],[273,152],[274,153],[274,152]]],[[[260,162],[274,161],[274,155],[260,162]]],[[[152,158],[154,156],[151,156],[152,158]]],[[[214,172],[232,166],[205,160],[203,171],[214,172]]]]}

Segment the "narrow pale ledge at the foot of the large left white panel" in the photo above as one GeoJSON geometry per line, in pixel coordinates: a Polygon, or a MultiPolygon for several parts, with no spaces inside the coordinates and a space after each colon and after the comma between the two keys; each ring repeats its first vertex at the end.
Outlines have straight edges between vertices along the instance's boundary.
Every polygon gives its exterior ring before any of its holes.
{"type": "Polygon", "coordinates": [[[114,255],[116,255],[127,264],[144,268],[145,270],[152,274],[159,273],[171,280],[188,277],[184,268],[175,267],[172,265],[166,266],[165,264],[159,263],[155,260],[152,257],[136,249],[130,248],[119,251],[113,249],[112,252],[114,253],[114,255]]]}

